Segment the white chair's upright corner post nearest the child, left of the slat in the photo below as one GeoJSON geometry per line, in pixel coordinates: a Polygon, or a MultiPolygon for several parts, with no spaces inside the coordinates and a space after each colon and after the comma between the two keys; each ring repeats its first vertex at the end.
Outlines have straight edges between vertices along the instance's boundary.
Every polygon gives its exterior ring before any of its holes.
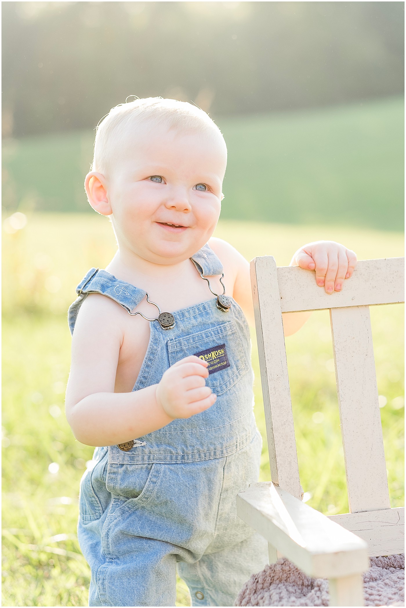
{"type": "Polygon", "coordinates": [[[274,258],[261,257],[250,269],[272,482],[300,499],[277,265],[274,258]]]}

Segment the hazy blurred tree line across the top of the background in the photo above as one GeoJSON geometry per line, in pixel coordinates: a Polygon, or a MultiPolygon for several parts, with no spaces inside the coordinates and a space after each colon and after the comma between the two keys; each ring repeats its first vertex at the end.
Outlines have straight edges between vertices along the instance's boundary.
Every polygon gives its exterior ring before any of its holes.
{"type": "Polygon", "coordinates": [[[3,2],[5,137],[92,128],[129,94],[213,117],[404,91],[404,2],[3,2]]]}

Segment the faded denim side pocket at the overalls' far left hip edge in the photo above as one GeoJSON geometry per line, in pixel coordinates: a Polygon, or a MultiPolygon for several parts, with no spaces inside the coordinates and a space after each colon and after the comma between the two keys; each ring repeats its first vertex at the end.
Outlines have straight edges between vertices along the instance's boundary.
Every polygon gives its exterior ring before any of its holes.
{"type": "Polygon", "coordinates": [[[108,450],[105,447],[98,450],[100,460],[84,472],[80,481],[79,511],[83,523],[100,519],[111,501],[111,494],[106,488],[108,450]]]}

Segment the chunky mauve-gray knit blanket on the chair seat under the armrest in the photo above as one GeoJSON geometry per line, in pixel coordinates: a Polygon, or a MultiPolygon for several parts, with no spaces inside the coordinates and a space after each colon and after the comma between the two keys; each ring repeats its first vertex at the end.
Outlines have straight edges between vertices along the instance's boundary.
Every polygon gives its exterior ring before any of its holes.
{"type": "MultiPolygon", "coordinates": [[[[363,575],[365,606],[404,606],[405,556],[370,558],[363,575]]],[[[253,574],[238,594],[235,606],[328,606],[328,581],[310,578],[282,558],[253,574]]]]}

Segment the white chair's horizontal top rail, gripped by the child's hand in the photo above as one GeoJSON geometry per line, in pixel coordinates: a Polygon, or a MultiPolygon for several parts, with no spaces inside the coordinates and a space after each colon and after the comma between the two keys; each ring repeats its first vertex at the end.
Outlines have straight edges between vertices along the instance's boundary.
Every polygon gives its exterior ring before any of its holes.
{"type": "Polygon", "coordinates": [[[404,302],[404,258],[360,260],[342,291],[331,295],[317,286],[314,271],[298,266],[278,268],[278,285],[283,313],[404,302]]]}

